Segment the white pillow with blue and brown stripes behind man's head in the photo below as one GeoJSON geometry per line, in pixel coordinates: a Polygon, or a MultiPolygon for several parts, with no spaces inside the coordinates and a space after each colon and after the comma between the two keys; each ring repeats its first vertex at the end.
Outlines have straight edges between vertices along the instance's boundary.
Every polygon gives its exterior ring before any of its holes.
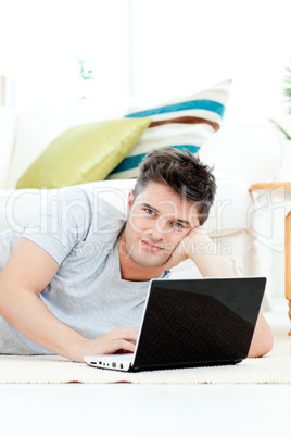
{"type": "Polygon", "coordinates": [[[142,158],[153,149],[174,147],[195,153],[220,127],[231,80],[163,105],[132,112],[126,117],[150,117],[150,126],[107,179],[137,177],[142,158]]]}

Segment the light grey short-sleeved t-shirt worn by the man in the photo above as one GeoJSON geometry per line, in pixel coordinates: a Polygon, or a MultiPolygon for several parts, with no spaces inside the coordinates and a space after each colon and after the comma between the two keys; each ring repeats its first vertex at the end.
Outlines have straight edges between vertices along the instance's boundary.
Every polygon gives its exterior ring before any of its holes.
{"type": "MultiPolygon", "coordinates": [[[[86,338],[139,327],[149,282],[122,279],[118,240],[125,216],[98,197],[65,189],[24,232],[0,234],[0,270],[20,237],[43,248],[59,271],[39,298],[61,322],[86,338]]],[[[162,277],[168,277],[164,272],[162,277]]],[[[52,353],[20,334],[0,315],[0,353],[52,353]]]]}

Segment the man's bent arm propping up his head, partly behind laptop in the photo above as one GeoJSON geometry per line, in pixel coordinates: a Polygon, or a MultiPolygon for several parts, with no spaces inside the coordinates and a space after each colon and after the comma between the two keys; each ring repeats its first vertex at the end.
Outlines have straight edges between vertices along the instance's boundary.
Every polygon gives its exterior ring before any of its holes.
{"type": "MultiPolygon", "coordinates": [[[[180,241],[167,261],[165,270],[178,265],[188,258],[191,258],[204,277],[233,277],[233,272],[216,252],[215,244],[204,230],[201,230],[200,226],[192,229],[180,241]]],[[[262,357],[268,353],[273,344],[271,330],[263,314],[260,313],[248,357],[262,357]]]]}

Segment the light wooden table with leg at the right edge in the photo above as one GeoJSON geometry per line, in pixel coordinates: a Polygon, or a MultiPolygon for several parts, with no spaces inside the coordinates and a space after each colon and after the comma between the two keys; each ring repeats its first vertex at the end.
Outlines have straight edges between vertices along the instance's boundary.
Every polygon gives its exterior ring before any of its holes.
{"type": "MultiPolygon", "coordinates": [[[[286,199],[291,198],[291,183],[264,183],[253,184],[249,188],[249,191],[255,190],[284,190],[286,199]]],[[[290,208],[290,207],[289,207],[290,208]]],[[[284,288],[286,298],[289,300],[289,317],[291,320],[291,211],[286,215],[284,220],[284,288]]],[[[291,335],[291,330],[289,332],[291,335]]]]}

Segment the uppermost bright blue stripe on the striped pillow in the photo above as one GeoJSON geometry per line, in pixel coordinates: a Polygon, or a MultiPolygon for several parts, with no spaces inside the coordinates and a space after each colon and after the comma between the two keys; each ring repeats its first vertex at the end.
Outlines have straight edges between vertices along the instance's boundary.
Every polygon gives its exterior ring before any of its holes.
{"type": "Polygon", "coordinates": [[[131,114],[126,115],[126,117],[143,117],[156,114],[164,114],[167,112],[187,111],[191,109],[216,112],[216,114],[220,115],[222,117],[225,113],[225,107],[222,103],[215,102],[213,100],[190,100],[188,102],[168,104],[166,107],[154,108],[140,112],[132,112],[131,114]]]}

